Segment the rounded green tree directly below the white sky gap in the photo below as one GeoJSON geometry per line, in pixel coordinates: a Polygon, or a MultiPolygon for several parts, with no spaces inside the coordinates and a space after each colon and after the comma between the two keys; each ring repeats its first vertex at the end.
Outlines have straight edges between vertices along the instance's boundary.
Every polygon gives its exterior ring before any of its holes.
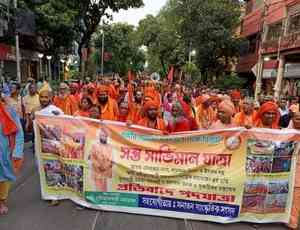
{"type": "Polygon", "coordinates": [[[105,34],[105,53],[110,60],[105,61],[106,72],[125,75],[129,69],[138,72],[143,71],[145,54],[139,47],[134,27],[124,23],[105,25],[98,28],[93,42],[97,49],[94,60],[100,66],[102,32],[105,34]]]}

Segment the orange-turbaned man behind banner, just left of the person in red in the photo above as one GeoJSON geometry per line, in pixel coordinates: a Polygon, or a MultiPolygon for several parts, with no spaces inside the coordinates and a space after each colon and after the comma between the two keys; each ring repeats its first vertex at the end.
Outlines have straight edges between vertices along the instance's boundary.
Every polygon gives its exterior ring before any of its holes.
{"type": "Polygon", "coordinates": [[[159,105],[155,101],[147,101],[144,104],[145,117],[139,121],[138,125],[145,126],[151,129],[166,131],[165,122],[159,118],[159,105]]]}

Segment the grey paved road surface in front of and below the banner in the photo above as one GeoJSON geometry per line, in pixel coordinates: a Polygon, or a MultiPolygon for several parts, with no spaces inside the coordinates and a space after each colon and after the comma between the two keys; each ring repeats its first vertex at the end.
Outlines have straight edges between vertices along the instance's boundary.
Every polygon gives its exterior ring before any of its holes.
{"type": "Polygon", "coordinates": [[[39,178],[31,149],[14,185],[8,216],[0,217],[0,230],[286,230],[281,224],[214,224],[144,215],[77,210],[72,202],[49,207],[40,198],[39,178]]]}

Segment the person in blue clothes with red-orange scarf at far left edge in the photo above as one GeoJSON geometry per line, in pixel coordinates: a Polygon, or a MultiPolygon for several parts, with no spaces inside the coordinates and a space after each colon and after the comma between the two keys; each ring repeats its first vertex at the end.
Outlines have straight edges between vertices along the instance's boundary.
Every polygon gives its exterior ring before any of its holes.
{"type": "Polygon", "coordinates": [[[0,92],[0,216],[8,213],[8,194],[23,162],[24,135],[17,112],[0,92]]]}

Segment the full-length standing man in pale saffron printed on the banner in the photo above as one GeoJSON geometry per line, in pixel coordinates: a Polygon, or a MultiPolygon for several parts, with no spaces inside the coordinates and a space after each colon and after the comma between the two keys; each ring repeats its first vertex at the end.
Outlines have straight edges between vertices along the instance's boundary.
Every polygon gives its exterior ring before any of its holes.
{"type": "Polygon", "coordinates": [[[97,191],[108,190],[108,179],[112,178],[112,147],[108,143],[108,132],[104,128],[99,131],[98,142],[92,146],[91,177],[97,191]]]}

